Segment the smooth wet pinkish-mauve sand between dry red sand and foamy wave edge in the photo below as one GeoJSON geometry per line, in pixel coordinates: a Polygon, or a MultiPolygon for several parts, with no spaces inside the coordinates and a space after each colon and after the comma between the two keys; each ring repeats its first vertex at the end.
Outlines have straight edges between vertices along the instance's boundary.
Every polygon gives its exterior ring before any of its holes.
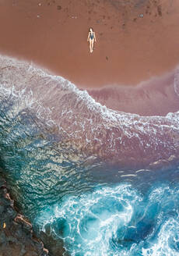
{"type": "Polygon", "coordinates": [[[107,108],[140,116],[166,116],[168,112],[177,112],[179,109],[178,72],[176,69],[135,87],[104,87],[89,89],[88,92],[107,108]]]}

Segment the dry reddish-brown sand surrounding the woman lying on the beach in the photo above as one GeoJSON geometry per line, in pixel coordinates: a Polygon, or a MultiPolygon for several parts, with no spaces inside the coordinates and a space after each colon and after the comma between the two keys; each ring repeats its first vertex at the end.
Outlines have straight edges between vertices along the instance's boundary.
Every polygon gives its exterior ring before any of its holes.
{"type": "Polygon", "coordinates": [[[178,10],[177,0],[2,0],[0,52],[78,87],[135,85],[177,66],[178,10]]]}

